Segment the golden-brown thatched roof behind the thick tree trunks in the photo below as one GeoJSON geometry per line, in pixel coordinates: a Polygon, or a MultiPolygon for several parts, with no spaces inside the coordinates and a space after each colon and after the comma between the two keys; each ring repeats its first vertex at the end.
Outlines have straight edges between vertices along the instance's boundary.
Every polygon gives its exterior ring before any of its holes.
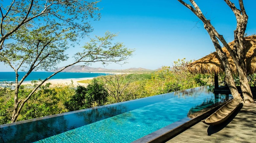
{"type": "MultiPolygon", "coordinates": [[[[228,43],[231,48],[234,46],[234,41],[228,43]]],[[[248,73],[256,73],[256,35],[245,37],[245,46],[248,50],[245,58],[246,68],[248,73]]],[[[231,70],[236,73],[236,66],[232,57],[225,47],[222,48],[227,54],[228,62],[231,70]]],[[[224,67],[220,62],[220,58],[216,52],[213,52],[199,60],[196,60],[188,65],[188,70],[192,73],[222,73],[224,67]]]]}

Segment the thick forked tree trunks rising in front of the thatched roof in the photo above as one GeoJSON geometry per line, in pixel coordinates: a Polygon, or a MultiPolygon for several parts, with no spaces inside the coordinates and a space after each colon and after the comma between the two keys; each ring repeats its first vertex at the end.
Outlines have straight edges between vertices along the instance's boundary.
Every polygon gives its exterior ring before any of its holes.
{"type": "Polygon", "coordinates": [[[245,65],[245,56],[246,56],[246,47],[245,47],[245,29],[247,25],[248,16],[246,15],[244,3],[243,0],[239,0],[239,8],[237,8],[233,3],[231,3],[230,0],[224,0],[226,4],[231,8],[233,11],[236,21],[237,21],[237,27],[236,30],[234,30],[234,41],[235,45],[232,49],[227,42],[225,41],[223,35],[220,35],[215,27],[210,23],[210,20],[206,19],[203,15],[201,9],[198,7],[196,2],[194,0],[189,0],[190,3],[193,5],[193,7],[187,3],[185,3],[183,0],[178,0],[182,5],[190,9],[204,24],[204,28],[207,30],[214,46],[216,49],[216,52],[218,56],[221,59],[221,62],[224,66],[224,71],[226,74],[225,81],[231,91],[231,94],[233,97],[239,97],[240,94],[238,93],[238,90],[235,86],[234,78],[231,72],[231,68],[229,65],[229,62],[227,60],[226,53],[222,51],[221,45],[219,43],[219,40],[223,43],[223,45],[228,50],[229,54],[231,55],[237,71],[239,75],[239,81],[240,86],[242,89],[242,94],[244,96],[244,102],[245,103],[254,103],[252,92],[250,89],[250,86],[248,84],[247,79],[247,72],[246,72],[246,65],[245,65]]]}

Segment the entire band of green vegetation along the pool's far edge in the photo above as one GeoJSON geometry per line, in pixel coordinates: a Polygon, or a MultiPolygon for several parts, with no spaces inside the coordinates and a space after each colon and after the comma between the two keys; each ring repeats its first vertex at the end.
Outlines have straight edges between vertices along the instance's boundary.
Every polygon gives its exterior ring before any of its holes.
{"type": "MultiPolygon", "coordinates": [[[[188,73],[187,63],[185,59],[178,60],[173,68],[163,66],[154,73],[100,76],[87,87],[41,85],[24,102],[17,121],[211,84],[211,76],[188,73]]],[[[40,83],[32,81],[30,85],[21,85],[18,90],[20,100],[26,99],[40,83]]],[[[11,122],[14,92],[15,89],[10,87],[0,88],[0,124],[11,122]]]]}

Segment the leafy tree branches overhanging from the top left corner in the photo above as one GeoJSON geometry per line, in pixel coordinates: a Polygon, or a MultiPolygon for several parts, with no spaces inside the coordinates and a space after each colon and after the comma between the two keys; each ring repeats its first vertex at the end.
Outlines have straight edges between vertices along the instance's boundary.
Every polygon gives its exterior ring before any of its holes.
{"type": "Polygon", "coordinates": [[[100,18],[97,1],[90,0],[12,0],[1,2],[0,51],[5,40],[22,26],[36,29],[42,24],[60,25],[58,30],[66,29],[76,41],[92,31],[90,18],[100,18]],[[10,5],[9,5],[10,4],[10,5]]]}

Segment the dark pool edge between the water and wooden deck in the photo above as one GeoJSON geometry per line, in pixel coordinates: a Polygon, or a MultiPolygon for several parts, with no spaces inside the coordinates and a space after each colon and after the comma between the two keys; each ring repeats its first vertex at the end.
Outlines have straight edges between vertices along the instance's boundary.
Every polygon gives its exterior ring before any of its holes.
{"type": "Polygon", "coordinates": [[[188,128],[192,127],[193,125],[199,123],[202,119],[207,118],[212,113],[217,111],[221,106],[223,106],[225,103],[230,101],[231,99],[225,101],[224,103],[221,103],[220,105],[211,108],[210,110],[204,112],[202,115],[199,115],[193,119],[188,120],[188,118],[183,118],[177,122],[174,122],[168,126],[165,126],[149,135],[143,136],[132,143],[160,143],[165,142],[176,135],[179,135],[183,131],[187,130],[188,128]],[[185,123],[184,123],[185,122],[185,123]]]}

